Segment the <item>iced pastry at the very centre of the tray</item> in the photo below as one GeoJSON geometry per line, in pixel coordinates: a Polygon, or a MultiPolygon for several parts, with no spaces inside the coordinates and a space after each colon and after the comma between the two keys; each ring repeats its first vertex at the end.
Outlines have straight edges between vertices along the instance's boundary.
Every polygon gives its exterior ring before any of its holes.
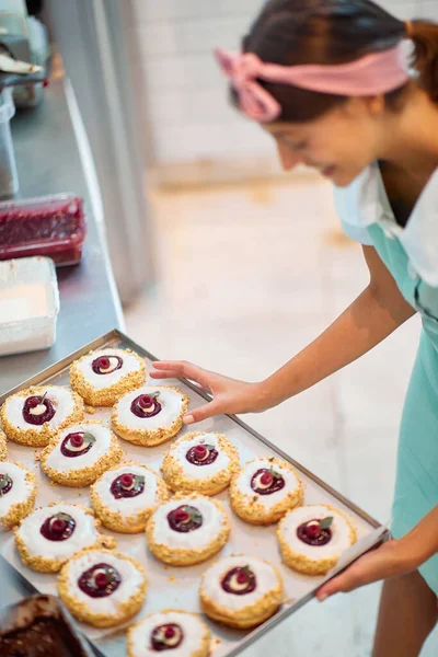
{"type": "Polygon", "coordinates": [[[113,531],[145,531],[152,511],[170,498],[163,480],[150,468],[126,463],[107,470],[90,488],[91,505],[113,531]]]}

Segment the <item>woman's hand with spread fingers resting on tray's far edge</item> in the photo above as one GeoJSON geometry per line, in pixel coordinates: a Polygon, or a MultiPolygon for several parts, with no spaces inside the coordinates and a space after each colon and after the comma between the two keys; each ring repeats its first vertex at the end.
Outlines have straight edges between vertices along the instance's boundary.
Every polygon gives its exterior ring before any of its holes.
{"type": "Polygon", "coordinates": [[[269,407],[263,383],[246,383],[216,374],[185,360],[153,362],[152,379],[185,378],[211,394],[212,401],[191,411],[184,424],[200,422],[214,415],[260,413],[269,407]]]}

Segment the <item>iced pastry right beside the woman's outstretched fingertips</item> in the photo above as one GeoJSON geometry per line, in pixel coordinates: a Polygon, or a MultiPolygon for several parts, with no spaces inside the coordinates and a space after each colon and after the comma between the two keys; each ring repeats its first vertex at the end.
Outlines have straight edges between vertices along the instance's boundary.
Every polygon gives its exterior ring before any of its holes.
{"type": "Polygon", "coordinates": [[[145,447],[170,440],[182,429],[188,397],[177,388],[145,385],[125,394],[113,408],[117,436],[145,447]]]}

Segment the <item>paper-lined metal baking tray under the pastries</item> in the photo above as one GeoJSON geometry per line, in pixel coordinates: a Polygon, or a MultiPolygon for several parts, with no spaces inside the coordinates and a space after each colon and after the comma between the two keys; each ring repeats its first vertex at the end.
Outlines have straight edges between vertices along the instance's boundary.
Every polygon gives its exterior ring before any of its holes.
{"type": "MultiPolygon", "coordinates": [[[[150,366],[151,361],[158,360],[149,351],[134,343],[119,331],[115,330],[101,338],[95,339],[91,344],[85,345],[79,351],[71,354],[39,374],[32,377],[32,379],[28,379],[21,385],[3,394],[0,396],[0,405],[10,394],[27,388],[28,385],[42,385],[44,383],[68,385],[69,366],[73,360],[80,358],[91,349],[110,346],[135,350],[145,358],[147,367],[150,366]]],[[[151,381],[150,379],[148,380],[151,381]]],[[[157,381],[153,381],[151,384],[157,385],[157,381]]],[[[191,408],[194,408],[205,403],[205,400],[210,399],[206,393],[185,379],[180,379],[178,381],[168,380],[164,383],[177,385],[185,394],[187,394],[191,399],[191,408]]],[[[93,419],[108,422],[110,413],[111,410],[99,408],[95,410],[95,413],[91,417],[93,419]]],[[[193,427],[187,427],[183,429],[183,433],[188,433],[191,430],[194,430],[193,427]]],[[[285,459],[298,471],[301,481],[303,482],[304,504],[332,504],[347,514],[357,529],[358,543],[342,555],[337,568],[332,570],[327,578],[332,577],[335,572],[345,567],[360,554],[364,554],[366,551],[389,538],[389,531],[385,527],[313,475],[309,470],[297,463],[289,454],[285,453],[269,442],[269,440],[257,434],[239,417],[233,415],[221,415],[219,417],[206,419],[196,425],[196,430],[215,430],[226,434],[238,447],[242,464],[255,457],[263,456],[277,456],[285,459]]],[[[168,443],[153,448],[137,447],[122,439],[120,445],[124,448],[127,458],[143,462],[155,471],[160,470],[163,456],[169,448],[168,443]]],[[[83,505],[88,504],[88,488],[74,489],[50,485],[38,463],[35,461],[34,449],[19,446],[11,441],[9,441],[8,448],[10,459],[21,461],[35,471],[38,484],[37,506],[47,504],[48,502],[60,500],[83,505]]],[[[264,558],[267,558],[279,568],[284,578],[286,591],[285,602],[280,610],[270,620],[253,631],[231,630],[205,619],[211,629],[212,635],[217,639],[214,650],[215,657],[232,657],[311,600],[315,590],[321,586],[323,578],[300,575],[284,566],[281,564],[275,535],[276,527],[255,527],[241,521],[231,511],[227,491],[219,494],[217,498],[223,503],[231,521],[231,537],[220,555],[224,556],[232,553],[247,553],[249,555],[254,556],[263,555],[264,558]]],[[[163,608],[184,609],[200,613],[198,585],[203,572],[211,561],[184,568],[165,566],[149,553],[146,539],[142,534],[113,535],[116,537],[118,549],[122,552],[138,558],[147,568],[149,589],[145,607],[139,613],[138,619],[142,618],[146,613],[160,611],[163,608]]],[[[56,595],[56,576],[36,573],[24,566],[15,550],[12,534],[7,534],[7,538],[3,539],[0,552],[7,562],[15,568],[26,581],[35,587],[37,591],[56,595]]],[[[97,643],[99,649],[104,655],[113,656],[126,654],[125,636],[119,629],[110,632],[95,630],[85,625],[81,625],[81,629],[89,639],[97,643]]]]}

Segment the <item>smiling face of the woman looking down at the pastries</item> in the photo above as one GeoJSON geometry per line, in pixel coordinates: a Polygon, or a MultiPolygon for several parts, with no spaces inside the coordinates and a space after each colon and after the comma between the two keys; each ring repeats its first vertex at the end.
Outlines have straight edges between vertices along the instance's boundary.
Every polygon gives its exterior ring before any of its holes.
{"type": "Polygon", "coordinates": [[[350,99],[315,120],[274,123],[264,128],[276,140],[286,171],[307,164],[336,186],[346,187],[382,157],[383,116],[383,97],[350,99]]]}

